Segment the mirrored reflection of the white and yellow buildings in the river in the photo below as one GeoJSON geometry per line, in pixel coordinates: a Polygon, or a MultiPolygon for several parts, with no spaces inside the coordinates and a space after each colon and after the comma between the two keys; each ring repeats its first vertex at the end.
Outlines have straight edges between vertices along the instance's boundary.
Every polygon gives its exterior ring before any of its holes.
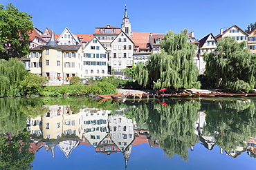
{"type": "MultiPolygon", "coordinates": [[[[44,105],[48,109],[43,116],[37,116],[27,120],[27,129],[30,131],[30,151],[36,153],[44,147],[50,151],[54,158],[55,147],[59,147],[66,158],[71,155],[75,147],[80,144],[92,145],[98,153],[122,152],[127,167],[131,156],[132,145],[147,143],[149,147],[161,147],[161,139],[152,140],[147,129],[138,129],[136,120],[123,116],[125,108],[113,113],[111,110],[84,107],[74,114],[69,105],[44,105]]],[[[201,144],[212,150],[217,143],[214,134],[204,134],[203,127],[207,125],[206,114],[199,111],[199,118],[194,123],[194,134],[201,144]]],[[[193,128],[193,127],[192,127],[193,128]]],[[[247,148],[237,146],[232,150],[224,150],[220,147],[220,153],[236,158],[246,151],[255,156],[256,139],[250,138],[246,143],[247,148]]],[[[194,150],[193,146],[191,151],[194,150]]]]}

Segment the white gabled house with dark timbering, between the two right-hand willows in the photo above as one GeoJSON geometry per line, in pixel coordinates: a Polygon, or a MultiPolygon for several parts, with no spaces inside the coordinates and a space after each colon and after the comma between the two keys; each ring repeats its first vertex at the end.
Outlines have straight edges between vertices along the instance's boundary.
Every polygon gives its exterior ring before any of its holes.
{"type": "Polygon", "coordinates": [[[205,52],[213,52],[217,47],[217,40],[214,38],[213,34],[210,33],[207,36],[203,37],[203,39],[199,40],[199,52],[194,60],[197,67],[199,68],[200,74],[205,72],[205,61],[203,61],[203,54],[205,52]]]}

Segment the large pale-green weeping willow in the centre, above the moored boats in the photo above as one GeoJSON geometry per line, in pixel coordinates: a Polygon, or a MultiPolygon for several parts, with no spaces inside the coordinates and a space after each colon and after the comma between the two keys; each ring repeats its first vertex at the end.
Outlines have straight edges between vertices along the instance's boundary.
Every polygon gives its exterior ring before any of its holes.
{"type": "Polygon", "coordinates": [[[156,89],[199,88],[199,70],[194,65],[196,45],[188,43],[188,38],[188,30],[179,34],[167,32],[161,41],[161,52],[152,54],[145,65],[137,64],[138,83],[143,86],[154,84],[156,89]]]}

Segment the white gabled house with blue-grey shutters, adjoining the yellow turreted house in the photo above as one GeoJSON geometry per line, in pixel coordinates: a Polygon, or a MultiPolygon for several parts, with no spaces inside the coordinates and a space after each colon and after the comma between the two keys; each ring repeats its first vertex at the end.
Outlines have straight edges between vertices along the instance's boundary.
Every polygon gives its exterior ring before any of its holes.
{"type": "Polygon", "coordinates": [[[108,74],[108,52],[94,37],[82,50],[82,78],[98,79],[108,74]]]}

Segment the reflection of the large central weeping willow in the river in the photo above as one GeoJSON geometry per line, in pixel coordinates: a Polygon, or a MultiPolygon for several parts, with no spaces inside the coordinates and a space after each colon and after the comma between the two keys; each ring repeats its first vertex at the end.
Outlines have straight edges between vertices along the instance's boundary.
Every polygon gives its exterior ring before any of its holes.
{"type": "Polygon", "coordinates": [[[194,146],[199,138],[194,134],[194,123],[199,118],[201,104],[196,101],[173,100],[167,105],[140,105],[136,123],[138,127],[147,128],[152,139],[160,140],[168,158],[179,155],[188,160],[188,147],[194,146]]]}

